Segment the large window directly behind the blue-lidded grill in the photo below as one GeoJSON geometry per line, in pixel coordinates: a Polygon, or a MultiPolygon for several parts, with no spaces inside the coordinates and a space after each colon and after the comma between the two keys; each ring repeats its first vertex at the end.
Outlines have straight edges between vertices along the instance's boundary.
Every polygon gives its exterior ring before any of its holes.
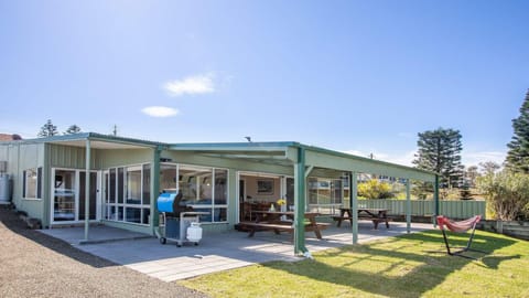
{"type": "Polygon", "coordinates": [[[228,171],[187,164],[161,164],[161,192],[182,192],[181,204],[207,212],[202,222],[226,222],[228,171]]]}

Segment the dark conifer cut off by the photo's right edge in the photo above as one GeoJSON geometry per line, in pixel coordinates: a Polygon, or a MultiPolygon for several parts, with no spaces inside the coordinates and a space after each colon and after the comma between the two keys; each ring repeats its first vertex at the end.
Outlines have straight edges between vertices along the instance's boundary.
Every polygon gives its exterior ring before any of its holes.
{"type": "Polygon", "coordinates": [[[515,172],[529,173],[529,89],[520,107],[520,116],[512,119],[515,136],[507,145],[506,167],[515,172]]]}

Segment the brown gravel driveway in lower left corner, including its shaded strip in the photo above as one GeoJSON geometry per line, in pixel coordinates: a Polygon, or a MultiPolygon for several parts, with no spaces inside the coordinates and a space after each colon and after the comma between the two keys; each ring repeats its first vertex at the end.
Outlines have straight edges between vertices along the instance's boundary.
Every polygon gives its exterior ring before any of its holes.
{"type": "Polygon", "coordinates": [[[1,297],[206,297],[25,227],[0,206],[1,297]]]}

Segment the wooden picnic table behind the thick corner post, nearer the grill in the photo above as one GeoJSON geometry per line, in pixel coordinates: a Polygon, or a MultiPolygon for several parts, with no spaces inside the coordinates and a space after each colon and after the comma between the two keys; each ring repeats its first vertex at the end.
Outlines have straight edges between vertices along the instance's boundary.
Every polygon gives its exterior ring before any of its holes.
{"type": "MultiPolygon", "coordinates": [[[[240,225],[249,231],[248,237],[252,237],[256,232],[260,231],[273,231],[276,234],[280,234],[282,231],[290,233],[294,231],[294,212],[292,211],[253,211],[252,213],[256,214],[255,222],[240,222],[240,225]],[[291,221],[281,220],[283,216],[291,221]]],[[[314,232],[316,237],[321,240],[321,230],[325,230],[330,224],[316,222],[317,215],[320,215],[317,212],[304,213],[304,217],[307,220],[305,231],[314,232]]]]}

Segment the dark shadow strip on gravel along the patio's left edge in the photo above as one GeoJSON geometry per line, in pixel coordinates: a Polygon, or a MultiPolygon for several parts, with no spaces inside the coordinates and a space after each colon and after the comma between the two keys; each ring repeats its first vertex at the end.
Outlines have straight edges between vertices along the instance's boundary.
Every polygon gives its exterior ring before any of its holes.
{"type": "Polygon", "coordinates": [[[65,255],[91,267],[104,268],[110,266],[118,266],[118,264],[115,264],[108,259],[100,258],[98,256],[79,251],[62,240],[54,238],[39,231],[28,228],[26,223],[23,222],[19,217],[17,212],[13,210],[0,209],[0,222],[11,232],[23,236],[29,241],[37,243],[39,245],[42,245],[58,254],[65,255]]]}

